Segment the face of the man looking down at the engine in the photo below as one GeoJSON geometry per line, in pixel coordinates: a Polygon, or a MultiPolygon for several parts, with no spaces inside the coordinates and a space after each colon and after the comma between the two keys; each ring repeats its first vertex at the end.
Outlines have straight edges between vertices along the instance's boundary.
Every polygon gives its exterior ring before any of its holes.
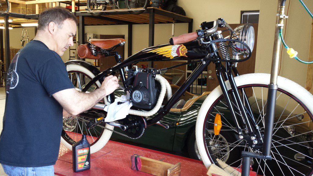
{"type": "Polygon", "coordinates": [[[62,56],[70,46],[73,46],[73,37],[76,34],[76,23],[71,19],[66,19],[61,28],[57,28],[56,30],[53,36],[55,41],[54,51],[62,56]]]}

